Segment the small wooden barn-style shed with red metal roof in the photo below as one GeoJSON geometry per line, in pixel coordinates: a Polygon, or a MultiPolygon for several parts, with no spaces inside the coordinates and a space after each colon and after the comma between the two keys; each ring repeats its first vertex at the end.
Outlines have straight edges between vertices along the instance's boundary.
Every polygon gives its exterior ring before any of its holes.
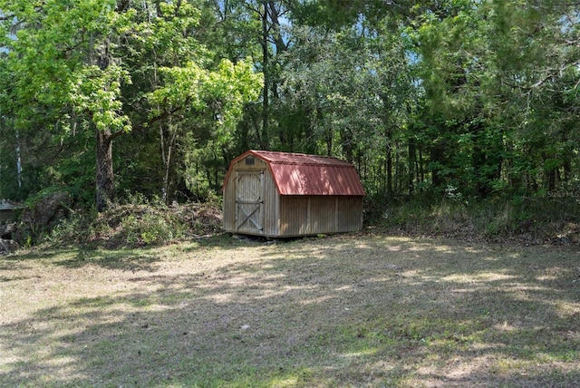
{"type": "Polygon", "coordinates": [[[361,179],[343,160],[248,150],[232,160],[223,192],[227,232],[283,238],[362,228],[361,179]]]}

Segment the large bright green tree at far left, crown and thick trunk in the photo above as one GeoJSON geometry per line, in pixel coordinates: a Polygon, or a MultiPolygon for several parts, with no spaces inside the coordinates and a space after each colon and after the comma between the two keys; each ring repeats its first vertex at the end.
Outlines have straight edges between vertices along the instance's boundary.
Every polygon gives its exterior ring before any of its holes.
{"type": "Polygon", "coordinates": [[[112,141],[131,131],[120,101],[121,83],[130,79],[115,56],[115,45],[130,25],[126,6],[111,1],[0,4],[20,25],[15,39],[5,40],[16,82],[12,113],[17,121],[30,122],[31,111],[46,115],[50,110],[53,122],[65,122],[64,131],[88,119],[81,123],[95,132],[100,210],[114,196],[112,141]]]}

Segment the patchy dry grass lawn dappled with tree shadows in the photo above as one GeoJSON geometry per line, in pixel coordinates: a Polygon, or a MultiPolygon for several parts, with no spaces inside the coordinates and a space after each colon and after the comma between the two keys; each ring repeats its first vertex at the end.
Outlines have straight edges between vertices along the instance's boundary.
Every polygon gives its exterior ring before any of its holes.
{"type": "Polygon", "coordinates": [[[579,276],[577,247],[368,234],[19,253],[0,385],[572,387],[579,276]]]}

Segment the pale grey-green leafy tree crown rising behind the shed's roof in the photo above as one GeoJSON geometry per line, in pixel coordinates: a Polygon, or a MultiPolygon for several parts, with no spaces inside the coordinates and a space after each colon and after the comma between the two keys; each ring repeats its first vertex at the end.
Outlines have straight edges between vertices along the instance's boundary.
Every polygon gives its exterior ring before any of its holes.
{"type": "Polygon", "coordinates": [[[279,109],[298,107],[306,122],[297,127],[288,120],[288,128],[280,128],[284,140],[297,150],[315,142],[317,152],[358,160],[369,170],[378,167],[385,150],[398,149],[394,129],[406,126],[414,103],[409,63],[397,33],[313,27],[294,33],[298,43],[285,54],[285,104],[279,109]],[[389,91],[398,92],[397,97],[389,91]]]}

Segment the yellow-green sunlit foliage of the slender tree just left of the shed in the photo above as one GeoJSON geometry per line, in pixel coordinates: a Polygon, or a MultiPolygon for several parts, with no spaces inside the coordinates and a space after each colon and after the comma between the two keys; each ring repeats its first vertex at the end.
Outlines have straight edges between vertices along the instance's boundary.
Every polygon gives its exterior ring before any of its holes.
{"type": "MultiPolygon", "coordinates": [[[[146,96],[151,106],[180,107],[180,111],[193,115],[205,111],[213,116],[198,119],[196,124],[203,130],[196,132],[189,131],[187,121],[172,119],[169,126],[169,136],[179,137],[175,148],[181,160],[176,172],[189,191],[203,198],[209,189],[218,189],[221,184],[216,179],[223,179],[223,172],[216,173],[224,163],[221,150],[232,141],[244,104],[258,98],[262,76],[253,72],[250,59],[236,64],[222,60],[215,71],[188,63],[161,68],[160,73],[167,82],[146,96]]],[[[162,114],[159,109],[150,112],[153,117],[162,114]]]]}

